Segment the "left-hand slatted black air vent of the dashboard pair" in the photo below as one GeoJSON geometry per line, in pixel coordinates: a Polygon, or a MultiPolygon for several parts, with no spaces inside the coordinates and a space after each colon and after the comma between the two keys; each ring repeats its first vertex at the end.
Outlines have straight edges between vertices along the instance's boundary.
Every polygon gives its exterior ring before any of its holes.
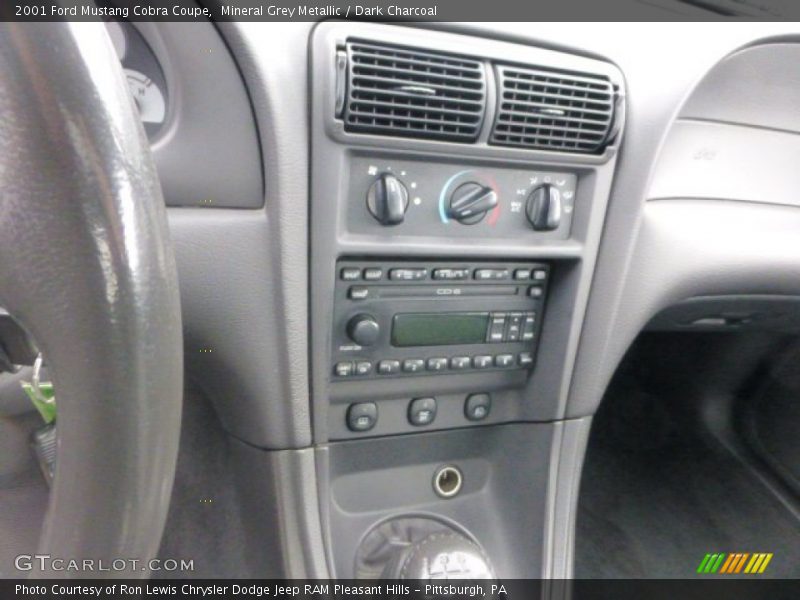
{"type": "Polygon", "coordinates": [[[474,142],[486,108],[483,63],[448,54],[347,44],[347,131],[474,142]]]}

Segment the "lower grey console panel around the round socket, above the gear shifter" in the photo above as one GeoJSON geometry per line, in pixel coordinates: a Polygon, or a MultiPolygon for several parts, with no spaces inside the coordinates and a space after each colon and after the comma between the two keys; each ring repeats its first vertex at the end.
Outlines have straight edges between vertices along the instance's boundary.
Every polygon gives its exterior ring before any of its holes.
{"type": "Polygon", "coordinates": [[[466,530],[500,578],[541,577],[554,427],[501,425],[324,447],[319,460],[330,494],[322,509],[333,576],[353,577],[368,531],[406,515],[466,530]],[[439,498],[431,483],[445,464],[458,467],[464,478],[462,491],[450,499],[439,498]]]}

